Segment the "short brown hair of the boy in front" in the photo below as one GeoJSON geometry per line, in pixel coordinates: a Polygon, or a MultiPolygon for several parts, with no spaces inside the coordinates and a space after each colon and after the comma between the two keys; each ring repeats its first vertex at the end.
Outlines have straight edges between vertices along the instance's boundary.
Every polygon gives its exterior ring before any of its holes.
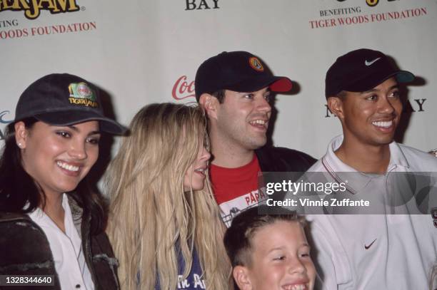
{"type": "Polygon", "coordinates": [[[251,264],[251,240],[253,235],[269,224],[278,221],[299,222],[304,226],[304,219],[296,212],[283,210],[283,214],[268,214],[271,210],[266,205],[252,207],[233,218],[231,227],[226,230],[223,242],[232,266],[247,266],[251,264]]]}

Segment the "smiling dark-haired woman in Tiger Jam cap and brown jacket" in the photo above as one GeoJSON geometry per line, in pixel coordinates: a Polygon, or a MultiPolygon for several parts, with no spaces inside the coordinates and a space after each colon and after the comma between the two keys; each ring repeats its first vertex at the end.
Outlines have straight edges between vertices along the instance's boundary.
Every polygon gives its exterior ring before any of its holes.
{"type": "Polygon", "coordinates": [[[119,288],[104,202],[86,175],[101,133],[125,128],[104,116],[97,93],[51,74],[21,94],[0,160],[0,286],[36,277],[51,289],[119,288]]]}

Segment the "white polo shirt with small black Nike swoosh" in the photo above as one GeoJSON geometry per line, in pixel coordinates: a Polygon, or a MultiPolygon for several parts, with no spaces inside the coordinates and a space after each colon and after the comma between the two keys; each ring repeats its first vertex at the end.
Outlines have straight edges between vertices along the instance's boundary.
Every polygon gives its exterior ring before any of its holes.
{"type": "MultiPolygon", "coordinates": [[[[308,171],[357,172],[334,151],[343,136],[308,171]]],[[[437,172],[437,159],[426,152],[390,144],[387,172],[437,172]]],[[[381,194],[381,178],[348,183],[348,190],[381,194]],[[379,190],[379,191],[378,191],[379,190]]],[[[431,214],[308,214],[323,289],[428,289],[437,259],[437,228],[431,214]]]]}

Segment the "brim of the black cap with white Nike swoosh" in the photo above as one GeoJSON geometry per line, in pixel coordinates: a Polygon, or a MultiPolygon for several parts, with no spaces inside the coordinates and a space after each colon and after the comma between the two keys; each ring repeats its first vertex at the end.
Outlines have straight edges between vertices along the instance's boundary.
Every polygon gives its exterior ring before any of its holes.
{"type": "Polygon", "coordinates": [[[361,78],[355,81],[353,84],[344,88],[344,90],[348,90],[350,92],[365,92],[367,90],[371,90],[375,88],[383,81],[388,80],[388,78],[395,77],[398,83],[409,83],[416,78],[413,73],[409,71],[392,71],[392,72],[383,72],[381,71],[378,74],[373,74],[371,76],[366,76],[365,78],[361,78]]]}

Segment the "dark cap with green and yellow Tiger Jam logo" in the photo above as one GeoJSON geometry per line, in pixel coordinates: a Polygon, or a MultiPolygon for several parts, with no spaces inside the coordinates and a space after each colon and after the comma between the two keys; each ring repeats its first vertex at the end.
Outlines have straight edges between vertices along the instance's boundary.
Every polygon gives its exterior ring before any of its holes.
{"type": "Polygon", "coordinates": [[[16,105],[14,123],[29,117],[58,126],[97,120],[103,132],[126,131],[124,126],[104,116],[99,91],[83,78],[68,73],[44,76],[24,90],[16,105]]]}

